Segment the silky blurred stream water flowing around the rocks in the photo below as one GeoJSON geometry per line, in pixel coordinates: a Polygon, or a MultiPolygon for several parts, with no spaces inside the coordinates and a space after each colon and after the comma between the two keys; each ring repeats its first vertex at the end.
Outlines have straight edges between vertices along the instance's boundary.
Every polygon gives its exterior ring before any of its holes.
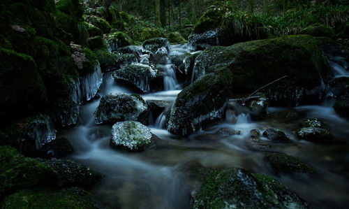
{"type": "MultiPolygon", "coordinates": [[[[170,55],[188,52],[186,45],[175,45],[170,55]]],[[[171,90],[142,95],[144,100],[161,100],[170,103],[180,90],[175,84],[171,90]]],[[[115,83],[110,73],[103,75],[99,90],[101,96],[133,90],[115,83]]],[[[262,122],[253,122],[245,110],[237,115],[227,111],[225,119],[188,137],[174,136],[164,128],[165,111],[150,126],[160,139],[156,148],[144,152],[124,152],[110,148],[112,125],[96,125],[94,110],[99,99],[81,106],[80,124],[61,131],[75,148],[70,156],[105,175],[103,181],[91,192],[107,208],[190,208],[190,194],[196,181],[192,178],[193,166],[242,167],[256,173],[266,173],[297,192],[316,208],[347,208],[349,206],[349,122],[337,115],[333,101],[318,106],[297,108],[269,108],[262,122]],[[297,140],[294,131],[299,123],[318,117],[326,128],[338,138],[330,145],[297,140]],[[292,143],[255,143],[249,137],[251,129],[283,129],[292,143]],[[232,129],[239,134],[221,134],[221,129],[232,129]],[[265,152],[284,152],[304,159],[315,167],[313,176],[277,175],[263,157],[265,152]]],[[[232,104],[234,105],[234,104],[232,104]]]]}

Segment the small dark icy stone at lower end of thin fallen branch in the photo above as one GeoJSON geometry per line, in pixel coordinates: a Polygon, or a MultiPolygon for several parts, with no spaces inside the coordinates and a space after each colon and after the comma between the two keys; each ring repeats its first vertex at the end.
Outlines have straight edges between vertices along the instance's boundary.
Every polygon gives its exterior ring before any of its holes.
{"type": "Polygon", "coordinates": [[[250,114],[253,120],[261,120],[267,116],[268,100],[265,97],[252,99],[246,105],[251,110],[250,114]]]}

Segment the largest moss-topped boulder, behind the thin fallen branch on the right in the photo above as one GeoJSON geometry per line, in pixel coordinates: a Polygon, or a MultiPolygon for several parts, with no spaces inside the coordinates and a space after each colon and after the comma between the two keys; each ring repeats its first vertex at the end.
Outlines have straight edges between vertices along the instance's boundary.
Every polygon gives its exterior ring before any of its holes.
{"type": "Polygon", "coordinates": [[[331,77],[318,40],[297,35],[211,47],[202,51],[193,65],[194,80],[225,65],[233,75],[232,91],[261,92],[270,105],[297,106],[320,101],[331,77]],[[287,76],[286,78],[284,76],[287,76]]]}

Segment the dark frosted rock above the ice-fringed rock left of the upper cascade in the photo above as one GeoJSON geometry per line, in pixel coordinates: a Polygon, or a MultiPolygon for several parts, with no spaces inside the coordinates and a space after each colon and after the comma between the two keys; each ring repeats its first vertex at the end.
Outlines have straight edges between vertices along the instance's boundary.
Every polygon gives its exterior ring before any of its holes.
{"type": "Polygon", "coordinates": [[[137,57],[133,54],[114,54],[110,53],[106,48],[99,48],[94,51],[99,63],[101,64],[101,69],[105,71],[116,71],[121,66],[126,64],[132,64],[137,62],[137,57]]]}

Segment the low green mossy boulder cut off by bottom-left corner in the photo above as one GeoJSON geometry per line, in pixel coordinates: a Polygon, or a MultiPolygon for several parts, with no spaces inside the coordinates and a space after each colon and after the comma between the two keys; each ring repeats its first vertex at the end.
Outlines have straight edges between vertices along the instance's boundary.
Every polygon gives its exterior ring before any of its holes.
{"type": "Polygon", "coordinates": [[[99,208],[89,192],[70,189],[24,189],[1,203],[1,208],[99,208]]]}

